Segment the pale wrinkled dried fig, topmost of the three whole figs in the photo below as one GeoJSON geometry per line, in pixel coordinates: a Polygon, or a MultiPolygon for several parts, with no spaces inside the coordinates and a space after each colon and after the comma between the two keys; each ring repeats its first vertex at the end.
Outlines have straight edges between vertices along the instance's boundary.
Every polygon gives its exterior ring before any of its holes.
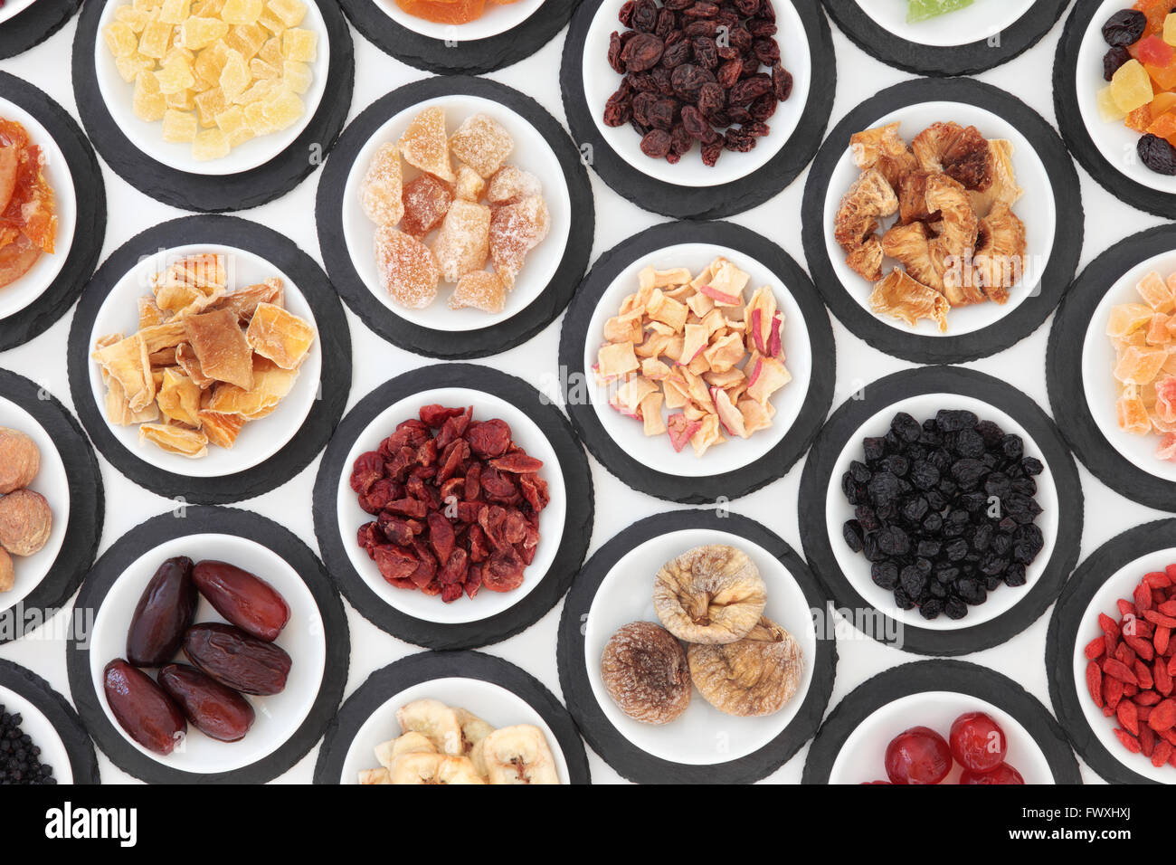
{"type": "Polygon", "coordinates": [[[723,544],[687,550],[654,578],[657,618],[687,643],[734,643],[755,627],[767,603],[747,553],[723,544]]]}

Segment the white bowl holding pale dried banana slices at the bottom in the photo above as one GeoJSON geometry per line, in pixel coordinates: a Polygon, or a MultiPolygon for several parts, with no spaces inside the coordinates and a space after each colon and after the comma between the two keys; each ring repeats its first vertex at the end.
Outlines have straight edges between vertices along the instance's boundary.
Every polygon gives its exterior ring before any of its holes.
{"type": "Polygon", "coordinates": [[[543,731],[547,746],[555,758],[555,767],[560,783],[568,783],[568,761],[560,748],[560,743],[547,726],[547,721],[529,703],[513,691],[481,679],[462,679],[452,677],[422,681],[393,694],[376,708],[352,739],[343,760],[340,784],[359,784],[359,773],[365,768],[379,768],[375,759],[375,746],[401,734],[396,711],[413,700],[441,700],[447,706],[465,708],[494,727],[509,727],[515,724],[534,724],[543,731]]]}

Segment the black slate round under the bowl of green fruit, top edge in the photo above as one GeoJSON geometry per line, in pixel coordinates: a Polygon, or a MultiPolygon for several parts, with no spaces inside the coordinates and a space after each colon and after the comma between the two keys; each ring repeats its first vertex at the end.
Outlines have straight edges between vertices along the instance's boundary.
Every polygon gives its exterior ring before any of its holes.
{"type": "Polygon", "coordinates": [[[829,16],[873,58],[916,75],[975,75],[1007,64],[1049,33],[1070,0],[1036,0],[996,36],[964,45],[922,45],[895,35],[862,8],[860,0],[824,0],[829,16]]]}

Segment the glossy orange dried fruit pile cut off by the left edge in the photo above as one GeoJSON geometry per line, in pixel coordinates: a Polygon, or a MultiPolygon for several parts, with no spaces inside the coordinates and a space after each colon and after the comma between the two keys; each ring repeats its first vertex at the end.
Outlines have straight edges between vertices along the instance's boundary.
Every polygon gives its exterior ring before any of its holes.
{"type": "Polygon", "coordinates": [[[54,251],[56,205],[45,165],[25,127],[0,118],[0,288],[54,251]]]}

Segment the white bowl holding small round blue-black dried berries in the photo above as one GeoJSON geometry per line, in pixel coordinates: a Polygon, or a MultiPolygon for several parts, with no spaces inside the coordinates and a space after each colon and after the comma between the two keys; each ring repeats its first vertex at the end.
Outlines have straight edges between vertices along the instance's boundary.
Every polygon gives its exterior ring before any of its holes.
{"type": "Polygon", "coordinates": [[[1022,438],[1025,457],[1035,457],[1044,463],[1041,450],[1035,445],[1024,427],[995,406],[955,393],[926,393],[887,406],[874,414],[849,438],[841,455],[834,464],[824,512],[826,523],[829,528],[829,546],[837,559],[837,566],[846,574],[846,579],[849,580],[854,591],[867,604],[895,619],[902,626],[921,627],[929,631],[954,631],[991,621],[997,616],[1011,610],[1033,588],[1034,583],[1041,577],[1042,571],[1045,570],[1045,565],[1054,554],[1054,544],[1057,540],[1060,503],[1057,486],[1047,465],[1045,471],[1034,478],[1037,483],[1037,504],[1042,507],[1042,513],[1037,517],[1037,526],[1041,528],[1045,545],[1037,554],[1037,558],[1033,560],[1033,564],[1025,568],[1025,577],[1028,579],[1025,585],[1017,587],[1002,585],[995,592],[989,592],[988,600],[983,604],[969,606],[968,614],[957,620],[949,619],[942,613],[934,619],[924,619],[917,608],[900,610],[894,603],[894,592],[875,585],[874,580],[870,579],[870,563],[866,560],[862,553],[855,553],[850,550],[841,534],[841,528],[846,521],[854,519],[854,507],[846,500],[844,493],[841,492],[841,478],[849,471],[850,463],[862,459],[862,439],[886,434],[887,430],[890,428],[890,420],[895,414],[907,412],[922,424],[927,418],[934,418],[941,408],[967,408],[970,412],[975,412],[976,417],[981,420],[994,421],[1005,433],[1015,433],[1022,438]]]}

